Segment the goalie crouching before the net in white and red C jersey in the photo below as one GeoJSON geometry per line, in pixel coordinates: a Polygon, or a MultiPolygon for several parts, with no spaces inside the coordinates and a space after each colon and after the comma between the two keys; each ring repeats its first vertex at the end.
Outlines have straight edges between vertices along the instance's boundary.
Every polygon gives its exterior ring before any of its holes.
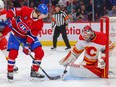
{"type": "Polygon", "coordinates": [[[60,65],[73,65],[79,55],[84,51],[83,61],[79,64],[84,66],[99,77],[105,77],[105,47],[107,44],[106,34],[96,32],[86,25],[79,36],[79,39],[66,57],[60,60],[60,65]],[[98,55],[101,54],[100,58],[98,55]],[[90,68],[87,66],[95,67],[90,68]]]}

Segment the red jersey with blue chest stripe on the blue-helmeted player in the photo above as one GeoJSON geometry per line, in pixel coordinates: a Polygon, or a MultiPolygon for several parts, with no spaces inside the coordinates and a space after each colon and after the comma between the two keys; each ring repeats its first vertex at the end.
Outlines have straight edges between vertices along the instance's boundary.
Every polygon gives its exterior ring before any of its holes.
{"type": "Polygon", "coordinates": [[[43,27],[42,19],[33,19],[34,10],[29,7],[13,8],[8,11],[7,18],[12,19],[13,32],[21,38],[27,38],[30,43],[43,27]],[[13,18],[16,17],[16,18],[13,18]]]}

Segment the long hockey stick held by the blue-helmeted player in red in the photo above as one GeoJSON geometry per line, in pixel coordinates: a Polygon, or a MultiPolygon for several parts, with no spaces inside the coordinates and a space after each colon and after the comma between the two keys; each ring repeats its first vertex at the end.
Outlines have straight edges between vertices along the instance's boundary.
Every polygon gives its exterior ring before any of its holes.
{"type": "MultiPolygon", "coordinates": [[[[12,33],[12,32],[11,32],[12,33]]],[[[12,33],[12,35],[15,37],[15,39],[21,44],[21,46],[24,48],[24,45],[23,45],[23,43],[12,33]]],[[[30,54],[29,55],[33,60],[34,60],[34,57],[30,54]]],[[[36,63],[36,64],[38,64],[37,63],[37,61],[35,61],[34,60],[34,62],[36,63]]],[[[40,69],[43,71],[43,73],[50,79],[50,80],[57,80],[57,79],[60,79],[61,78],[61,76],[60,75],[57,75],[57,76],[49,76],[46,72],[45,72],[45,70],[38,64],[38,66],[40,67],[40,69]]]]}

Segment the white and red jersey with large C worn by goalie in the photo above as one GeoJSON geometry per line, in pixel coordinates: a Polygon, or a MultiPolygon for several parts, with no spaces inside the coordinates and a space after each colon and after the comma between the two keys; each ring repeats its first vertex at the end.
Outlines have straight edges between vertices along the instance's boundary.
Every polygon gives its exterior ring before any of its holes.
{"type": "Polygon", "coordinates": [[[83,39],[83,37],[80,35],[78,42],[74,46],[72,52],[75,54],[80,55],[83,51],[85,51],[84,56],[90,60],[96,60],[98,59],[99,51],[104,51],[106,44],[107,44],[107,38],[106,34],[101,32],[95,32],[96,37],[91,41],[87,42],[83,39]]]}

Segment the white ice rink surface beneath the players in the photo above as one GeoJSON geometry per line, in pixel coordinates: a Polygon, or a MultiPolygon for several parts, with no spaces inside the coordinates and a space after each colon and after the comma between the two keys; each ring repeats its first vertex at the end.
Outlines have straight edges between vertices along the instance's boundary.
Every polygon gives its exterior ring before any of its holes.
{"type": "MultiPolygon", "coordinates": [[[[43,47],[45,56],[42,60],[41,67],[50,75],[62,75],[64,67],[59,65],[68,52],[65,47],[58,47],[57,51],[51,51],[50,47],[43,47]]],[[[0,52],[0,87],[116,87],[116,79],[101,78],[75,78],[71,77],[69,71],[64,80],[49,80],[47,77],[44,81],[30,81],[30,68],[32,59],[25,55],[20,47],[19,56],[16,59],[16,66],[19,71],[14,73],[13,82],[7,80],[7,61],[2,52],[0,52]]],[[[43,72],[40,70],[43,74],[43,72]]]]}

